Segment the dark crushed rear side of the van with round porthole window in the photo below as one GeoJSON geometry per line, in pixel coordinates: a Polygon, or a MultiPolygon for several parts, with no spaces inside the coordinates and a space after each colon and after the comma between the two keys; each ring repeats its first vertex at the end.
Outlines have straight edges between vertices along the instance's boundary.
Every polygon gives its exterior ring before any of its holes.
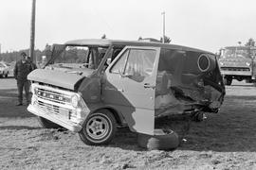
{"type": "Polygon", "coordinates": [[[217,112],[225,86],[210,53],[162,49],[155,90],[155,116],[217,112]]]}

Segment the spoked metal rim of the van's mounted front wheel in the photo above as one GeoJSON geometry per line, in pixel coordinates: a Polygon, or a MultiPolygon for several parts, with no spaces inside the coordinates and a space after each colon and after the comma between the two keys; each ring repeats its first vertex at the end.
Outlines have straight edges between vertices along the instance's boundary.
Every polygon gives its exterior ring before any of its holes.
{"type": "Polygon", "coordinates": [[[86,124],[86,133],[93,140],[101,140],[105,138],[111,127],[105,117],[102,116],[93,116],[91,117],[86,124]]]}

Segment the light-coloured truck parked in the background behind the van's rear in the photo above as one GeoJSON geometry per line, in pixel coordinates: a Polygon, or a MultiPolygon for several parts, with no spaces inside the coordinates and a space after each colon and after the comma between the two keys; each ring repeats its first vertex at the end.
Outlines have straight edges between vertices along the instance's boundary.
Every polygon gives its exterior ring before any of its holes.
{"type": "Polygon", "coordinates": [[[231,85],[233,79],[256,82],[256,47],[227,46],[221,49],[219,66],[225,85],[231,85]]]}

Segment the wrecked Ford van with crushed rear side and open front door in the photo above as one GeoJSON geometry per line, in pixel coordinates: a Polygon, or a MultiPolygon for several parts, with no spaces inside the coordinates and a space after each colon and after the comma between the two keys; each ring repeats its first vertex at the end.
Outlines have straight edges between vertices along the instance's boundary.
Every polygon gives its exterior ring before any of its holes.
{"type": "Polygon", "coordinates": [[[27,78],[27,110],[85,144],[108,144],[117,127],[154,135],[157,117],[216,113],[225,95],[214,54],[160,42],[54,44],[44,69],[27,78]]]}

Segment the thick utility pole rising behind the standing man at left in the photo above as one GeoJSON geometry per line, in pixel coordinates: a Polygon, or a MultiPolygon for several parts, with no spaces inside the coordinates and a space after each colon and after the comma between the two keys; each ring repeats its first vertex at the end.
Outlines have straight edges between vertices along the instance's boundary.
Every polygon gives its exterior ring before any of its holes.
{"type": "Polygon", "coordinates": [[[32,0],[29,56],[30,56],[31,60],[34,61],[34,62],[36,62],[36,58],[34,58],[34,48],[35,48],[35,8],[36,8],[36,0],[32,0]]]}

